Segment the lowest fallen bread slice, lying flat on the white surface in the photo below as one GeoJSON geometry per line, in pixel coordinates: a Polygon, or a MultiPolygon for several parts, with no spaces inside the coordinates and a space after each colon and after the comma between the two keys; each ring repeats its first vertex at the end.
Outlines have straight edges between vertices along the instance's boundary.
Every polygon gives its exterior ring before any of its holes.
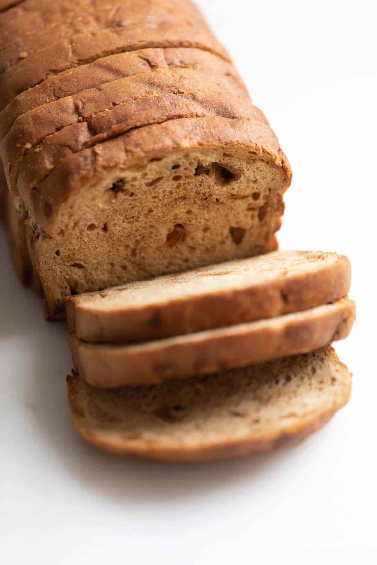
{"type": "Polygon", "coordinates": [[[332,347],[160,386],[98,390],[67,377],[73,424],[122,457],[233,459],[297,443],[349,399],[351,375],[332,347]]]}

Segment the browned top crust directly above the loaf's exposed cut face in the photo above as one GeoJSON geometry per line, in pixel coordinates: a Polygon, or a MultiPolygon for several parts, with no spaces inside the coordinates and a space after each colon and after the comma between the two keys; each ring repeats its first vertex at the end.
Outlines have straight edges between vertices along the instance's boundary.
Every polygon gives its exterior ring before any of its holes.
{"type": "Polygon", "coordinates": [[[271,166],[281,168],[286,179],[281,186],[281,194],[288,188],[291,168],[268,125],[250,119],[213,116],[148,125],[69,155],[60,160],[37,190],[22,197],[32,217],[53,236],[64,229],[62,211],[64,206],[72,205],[67,203],[68,197],[76,194],[86,183],[103,180],[109,171],[119,171],[121,177],[122,171],[133,164],[146,164],[150,159],[172,151],[219,146],[240,153],[246,160],[259,157],[271,166]]]}

